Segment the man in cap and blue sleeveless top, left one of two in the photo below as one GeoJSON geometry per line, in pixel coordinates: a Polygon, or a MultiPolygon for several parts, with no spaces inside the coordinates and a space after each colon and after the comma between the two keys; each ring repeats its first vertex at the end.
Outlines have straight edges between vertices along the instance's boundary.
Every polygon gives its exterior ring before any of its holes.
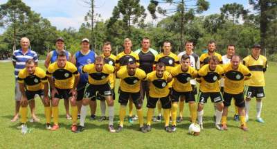
{"type": "MultiPolygon", "coordinates": [[[[66,60],[71,61],[71,53],[69,53],[69,51],[64,50],[64,38],[58,37],[56,40],[55,46],[56,46],[56,49],[49,52],[46,56],[46,60],[44,62],[44,66],[46,67],[46,69],[49,67],[49,64],[52,64],[53,62],[57,61],[57,55],[59,55],[61,51],[65,51],[66,60]]],[[[66,110],[66,119],[72,119],[69,114],[69,100],[64,99],[64,107],[66,110]]]]}

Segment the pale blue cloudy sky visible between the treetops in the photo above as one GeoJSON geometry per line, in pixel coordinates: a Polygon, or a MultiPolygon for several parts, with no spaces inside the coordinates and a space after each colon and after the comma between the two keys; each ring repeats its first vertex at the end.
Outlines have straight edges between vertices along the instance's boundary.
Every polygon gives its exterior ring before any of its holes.
{"type": "MultiPolygon", "coordinates": [[[[0,0],[0,5],[6,3],[8,0],[0,0]]],[[[23,0],[26,5],[51,21],[53,26],[62,30],[63,28],[73,27],[78,29],[84,23],[84,16],[89,11],[89,7],[84,1],[86,0],[23,0]]],[[[220,8],[226,3],[240,3],[244,8],[251,8],[248,0],[208,0],[210,8],[202,15],[211,15],[213,13],[220,13],[220,8]]],[[[112,14],[114,6],[117,5],[118,0],[96,0],[95,12],[100,14],[98,19],[109,19],[112,14]]],[[[148,17],[147,22],[156,23],[158,20],[153,20],[147,10],[150,0],[141,0],[141,5],[145,7],[148,17]]],[[[163,5],[163,8],[170,8],[171,6],[163,5]]],[[[162,17],[162,16],[160,16],[162,17]]],[[[0,28],[0,34],[3,33],[3,28],[0,28]]]]}

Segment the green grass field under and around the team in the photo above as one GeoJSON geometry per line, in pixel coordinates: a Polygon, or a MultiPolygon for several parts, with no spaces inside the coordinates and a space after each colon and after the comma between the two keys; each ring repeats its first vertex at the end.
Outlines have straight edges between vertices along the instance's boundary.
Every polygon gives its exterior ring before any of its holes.
{"type": "MultiPolygon", "coordinates": [[[[42,64],[40,64],[42,66],[42,64]]],[[[39,123],[28,123],[33,128],[28,134],[17,130],[17,123],[10,122],[14,114],[14,86],[12,64],[0,63],[0,148],[276,148],[277,115],[276,89],[277,64],[270,63],[266,73],[267,98],[263,100],[262,118],[264,124],[255,121],[256,101],[251,102],[249,132],[238,128],[239,122],[233,121],[233,106],[229,109],[229,130],[218,131],[213,123],[211,102],[204,109],[204,130],[198,137],[188,134],[188,105],[185,105],[185,121],[177,123],[177,132],[167,133],[162,123],[153,123],[152,131],[143,134],[138,131],[139,123],[125,122],[123,132],[111,134],[107,131],[107,121],[89,121],[87,116],[86,130],[80,134],[70,131],[71,121],[65,119],[64,105],[60,102],[60,130],[45,130],[44,107],[36,99],[39,123]],[[274,147],[275,146],[275,147],[274,147]]],[[[118,100],[115,100],[115,126],[118,126],[118,100]]],[[[98,103],[99,104],[99,103],[98,103]]],[[[98,105],[99,107],[99,105],[98,105]]],[[[100,109],[97,109],[97,115],[100,109]]],[[[146,106],[143,105],[146,120],[146,106]]],[[[88,110],[89,114],[89,110],[88,110]]],[[[30,111],[28,111],[30,116],[30,111]]],[[[99,118],[99,117],[98,117],[99,118]]]]}

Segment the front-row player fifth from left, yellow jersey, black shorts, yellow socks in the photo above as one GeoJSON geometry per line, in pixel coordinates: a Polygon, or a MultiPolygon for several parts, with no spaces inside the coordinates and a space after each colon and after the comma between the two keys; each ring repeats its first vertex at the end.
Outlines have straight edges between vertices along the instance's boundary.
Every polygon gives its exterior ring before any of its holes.
{"type": "Polygon", "coordinates": [[[152,116],[154,114],[154,109],[158,100],[161,102],[161,107],[163,108],[163,116],[165,119],[165,130],[166,132],[172,132],[169,127],[169,115],[171,102],[169,98],[170,89],[168,83],[171,82],[172,76],[168,71],[166,71],[166,65],[163,62],[158,62],[156,64],[156,71],[148,73],[147,79],[150,82],[149,100],[147,103],[148,113],[147,113],[147,126],[146,130],[149,132],[151,130],[152,116]]]}

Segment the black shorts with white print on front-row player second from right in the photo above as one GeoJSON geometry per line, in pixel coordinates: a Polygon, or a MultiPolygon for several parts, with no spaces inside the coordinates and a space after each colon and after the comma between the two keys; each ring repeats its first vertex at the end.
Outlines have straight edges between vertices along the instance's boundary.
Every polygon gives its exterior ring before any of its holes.
{"type": "Polygon", "coordinates": [[[220,92],[206,92],[203,93],[199,90],[198,94],[198,103],[207,103],[208,98],[211,98],[212,103],[221,103],[223,102],[223,98],[220,92]]]}

